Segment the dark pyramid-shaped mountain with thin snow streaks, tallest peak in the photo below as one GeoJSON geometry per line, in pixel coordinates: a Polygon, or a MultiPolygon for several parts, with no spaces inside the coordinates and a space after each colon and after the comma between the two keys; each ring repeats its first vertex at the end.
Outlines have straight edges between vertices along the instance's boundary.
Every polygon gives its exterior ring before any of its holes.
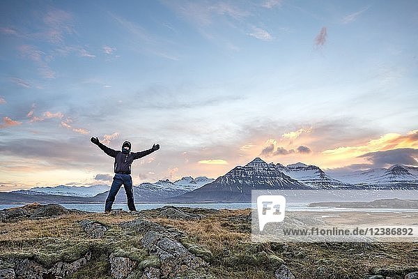
{"type": "Polygon", "coordinates": [[[175,202],[251,202],[251,190],[257,189],[311,189],[311,186],[280,172],[276,165],[255,158],[212,183],[172,199],[175,202]]]}

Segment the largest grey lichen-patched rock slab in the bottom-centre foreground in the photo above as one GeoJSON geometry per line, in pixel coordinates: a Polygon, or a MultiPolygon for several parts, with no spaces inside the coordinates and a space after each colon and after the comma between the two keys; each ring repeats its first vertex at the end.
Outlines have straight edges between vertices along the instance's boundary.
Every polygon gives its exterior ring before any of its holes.
{"type": "Polygon", "coordinates": [[[157,255],[160,258],[162,278],[208,266],[207,262],[189,252],[170,234],[150,230],[144,234],[141,243],[150,255],[157,255]]]}

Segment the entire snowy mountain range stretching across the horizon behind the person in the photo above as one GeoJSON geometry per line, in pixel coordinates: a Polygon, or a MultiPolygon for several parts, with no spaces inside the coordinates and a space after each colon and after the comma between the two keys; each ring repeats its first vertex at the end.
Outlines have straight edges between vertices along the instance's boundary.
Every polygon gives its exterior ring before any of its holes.
{"type": "MultiPolygon", "coordinates": [[[[110,186],[36,187],[0,193],[0,204],[48,202],[104,202],[110,186]]],[[[253,189],[418,189],[418,167],[393,165],[344,174],[325,173],[315,165],[296,163],[281,165],[255,158],[245,166],[236,166],[217,179],[185,176],[171,182],[141,183],[134,186],[135,202],[250,202],[253,189]]],[[[126,202],[125,191],[119,191],[116,202],[126,202]]]]}

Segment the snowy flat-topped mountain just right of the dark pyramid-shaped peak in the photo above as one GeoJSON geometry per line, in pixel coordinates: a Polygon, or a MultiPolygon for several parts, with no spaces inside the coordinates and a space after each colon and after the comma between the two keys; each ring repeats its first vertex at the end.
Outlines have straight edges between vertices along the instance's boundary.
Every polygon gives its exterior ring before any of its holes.
{"type": "Polygon", "coordinates": [[[316,165],[305,165],[304,163],[296,163],[287,165],[276,164],[277,169],[284,174],[291,176],[304,184],[316,189],[334,189],[334,188],[353,188],[350,183],[342,182],[337,179],[333,179],[320,167],[316,165]]]}

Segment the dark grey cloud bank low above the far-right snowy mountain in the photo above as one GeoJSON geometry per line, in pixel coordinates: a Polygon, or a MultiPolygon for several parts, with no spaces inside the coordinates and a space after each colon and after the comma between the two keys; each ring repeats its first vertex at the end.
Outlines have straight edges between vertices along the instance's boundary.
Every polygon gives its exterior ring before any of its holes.
{"type": "Polygon", "coordinates": [[[388,165],[418,165],[418,149],[392,149],[366,153],[359,158],[366,158],[373,167],[387,167],[388,165]]]}

